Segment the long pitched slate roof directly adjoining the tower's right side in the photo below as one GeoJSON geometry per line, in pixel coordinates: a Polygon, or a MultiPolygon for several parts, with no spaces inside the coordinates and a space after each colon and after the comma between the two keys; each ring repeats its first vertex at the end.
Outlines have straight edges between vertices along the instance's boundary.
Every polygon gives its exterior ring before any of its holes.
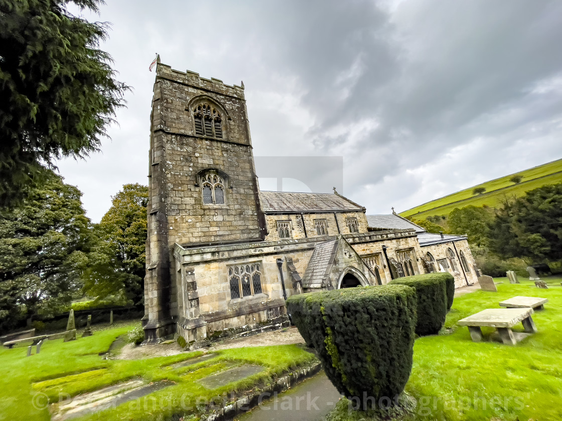
{"type": "Polygon", "coordinates": [[[338,194],[260,191],[265,213],[363,212],[365,208],[338,194]]]}

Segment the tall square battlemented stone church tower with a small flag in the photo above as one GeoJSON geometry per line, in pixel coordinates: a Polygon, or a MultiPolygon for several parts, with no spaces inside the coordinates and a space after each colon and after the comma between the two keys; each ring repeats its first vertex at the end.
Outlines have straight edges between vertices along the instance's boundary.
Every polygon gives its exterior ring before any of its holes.
{"type": "MultiPolygon", "coordinates": [[[[265,217],[244,87],[156,67],[149,151],[145,315],[147,342],[174,333],[175,244],[260,241],[265,217]]],[[[198,306],[197,293],[189,305],[198,306]]],[[[187,303],[186,303],[187,304],[187,303]]]]}

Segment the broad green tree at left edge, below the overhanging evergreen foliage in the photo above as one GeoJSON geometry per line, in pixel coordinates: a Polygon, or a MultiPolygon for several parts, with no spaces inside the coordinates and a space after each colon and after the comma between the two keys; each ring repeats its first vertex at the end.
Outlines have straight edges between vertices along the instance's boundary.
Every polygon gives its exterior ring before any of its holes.
{"type": "Polygon", "coordinates": [[[56,313],[80,290],[90,247],[80,196],[49,171],[19,207],[0,212],[0,330],[56,313]]]}

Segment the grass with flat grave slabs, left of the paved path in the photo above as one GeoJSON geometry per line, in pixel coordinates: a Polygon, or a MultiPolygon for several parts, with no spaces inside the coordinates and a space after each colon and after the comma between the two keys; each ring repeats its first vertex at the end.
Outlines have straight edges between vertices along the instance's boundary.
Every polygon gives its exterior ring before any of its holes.
{"type": "MultiPolygon", "coordinates": [[[[62,396],[114,385],[127,379],[142,378],[146,382],[167,380],[173,385],[117,408],[76,420],[155,420],[183,413],[182,408],[196,408],[199,402],[211,401],[232,390],[249,390],[256,383],[267,381],[291,368],[310,363],[315,357],[296,345],[264,346],[217,351],[216,357],[182,369],[166,367],[178,361],[201,355],[201,352],[148,358],[142,360],[103,360],[111,343],[137,324],[106,330],[76,341],[46,341],[41,353],[26,357],[26,347],[0,350],[0,420],[49,420],[45,402],[62,396]],[[264,370],[238,382],[214,390],[198,383],[203,378],[244,363],[262,365],[264,370]],[[65,377],[65,378],[62,378],[65,377]]],[[[35,352],[35,347],[34,347],[35,352]]],[[[193,410],[192,409],[192,410],[193,410]]],[[[190,410],[185,410],[189,413],[190,410]]]]}

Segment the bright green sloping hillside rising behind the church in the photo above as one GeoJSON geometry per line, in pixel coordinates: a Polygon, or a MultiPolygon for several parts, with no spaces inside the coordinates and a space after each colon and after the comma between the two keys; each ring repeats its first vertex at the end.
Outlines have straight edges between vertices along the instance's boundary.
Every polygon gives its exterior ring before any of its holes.
{"type": "Polygon", "coordinates": [[[413,216],[416,219],[424,219],[432,215],[447,215],[455,208],[462,208],[468,205],[488,205],[493,208],[499,205],[505,196],[521,196],[527,190],[559,182],[562,182],[562,159],[457,191],[440,199],[408,209],[400,214],[404,217],[413,216]],[[515,175],[523,177],[519,184],[513,184],[513,182],[509,181],[515,175]],[[484,187],[486,193],[474,195],[472,191],[477,187],[484,187]]]}

